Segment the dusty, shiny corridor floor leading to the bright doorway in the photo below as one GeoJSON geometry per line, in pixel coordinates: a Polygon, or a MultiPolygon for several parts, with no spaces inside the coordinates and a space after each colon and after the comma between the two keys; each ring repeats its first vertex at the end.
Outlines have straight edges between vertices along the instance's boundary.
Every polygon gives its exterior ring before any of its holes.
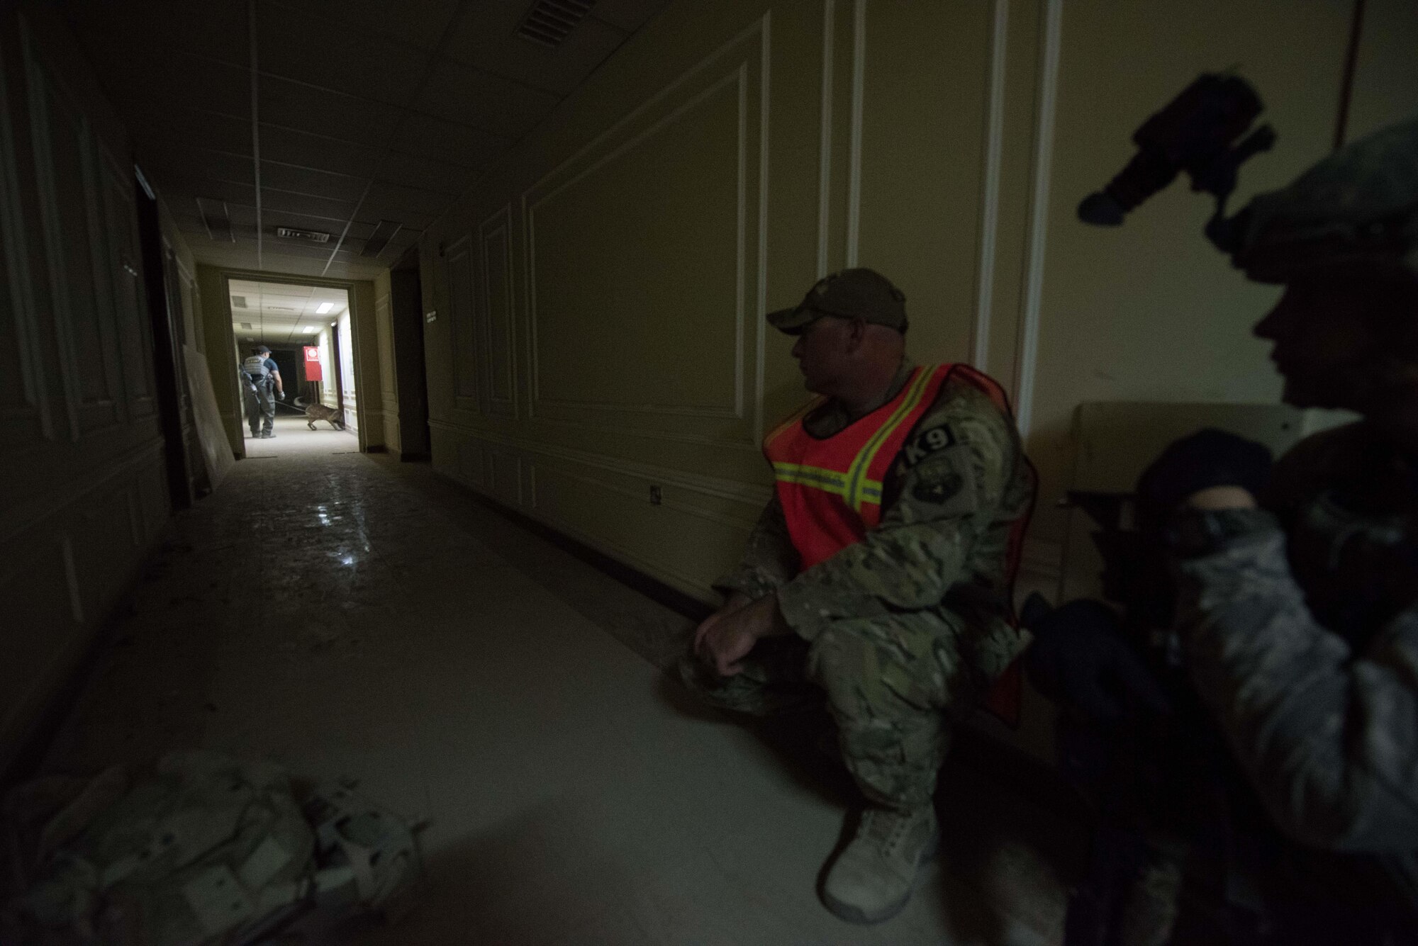
{"type": "Polygon", "coordinates": [[[333,942],[1058,940],[1078,838],[963,766],[908,911],[832,918],[814,888],[851,785],[803,734],[681,702],[655,663],[688,619],[425,465],[291,423],[169,525],[48,770],[201,746],[425,819],[414,911],[333,942]]]}

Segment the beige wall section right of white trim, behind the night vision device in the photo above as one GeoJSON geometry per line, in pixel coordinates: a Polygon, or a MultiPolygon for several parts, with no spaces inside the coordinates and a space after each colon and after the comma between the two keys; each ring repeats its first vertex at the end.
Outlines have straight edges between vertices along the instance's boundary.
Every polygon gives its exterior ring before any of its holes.
{"type": "Polygon", "coordinates": [[[1278,290],[1246,282],[1202,236],[1210,200],[1177,183],[1119,228],[1075,208],[1133,153],[1132,132],[1204,68],[1242,64],[1276,149],[1248,163],[1232,211],[1323,157],[1337,118],[1347,0],[1065,4],[1028,449],[1042,486],[1034,537],[1056,541],[1055,500],[1089,401],[1275,402],[1279,378],[1251,326],[1278,290]]]}

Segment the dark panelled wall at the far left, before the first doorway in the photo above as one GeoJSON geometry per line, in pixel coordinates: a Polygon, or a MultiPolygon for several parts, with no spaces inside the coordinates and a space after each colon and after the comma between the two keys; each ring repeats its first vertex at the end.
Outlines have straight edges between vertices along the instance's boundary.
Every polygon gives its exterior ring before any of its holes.
{"type": "Polygon", "coordinates": [[[0,776],[169,514],[128,139],[64,27],[6,10],[0,776]]]}

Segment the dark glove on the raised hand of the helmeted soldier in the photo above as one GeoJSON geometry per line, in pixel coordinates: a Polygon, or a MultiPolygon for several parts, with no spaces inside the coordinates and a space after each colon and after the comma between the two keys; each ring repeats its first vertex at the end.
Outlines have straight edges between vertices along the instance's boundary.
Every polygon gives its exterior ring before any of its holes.
{"type": "Polygon", "coordinates": [[[1143,510],[1164,520],[1187,497],[1212,486],[1239,486],[1252,496],[1271,479],[1271,450],[1235,433],[1207,428],[1174,440],[1137,480],[1143,510]]]}

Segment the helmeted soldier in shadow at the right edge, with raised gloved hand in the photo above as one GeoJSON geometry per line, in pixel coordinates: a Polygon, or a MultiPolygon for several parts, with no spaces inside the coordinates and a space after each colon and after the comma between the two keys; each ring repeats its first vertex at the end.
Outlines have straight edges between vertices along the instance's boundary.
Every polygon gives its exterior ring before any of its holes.
{"type": "MultiPolygon", "coordinates": [[[[1302,440],[1273,470],[1259,445],[1207,431],[1139,484],[1180,575],[1187,695],[1229,756],[1214,769],[1234,768],[1256,809],[1224,833],[1231,874],[1210,879],[1227,902],[1184,909],[1176,938],[1412,943],[1418,120],[1256,197],[1236,225],[1235,265],[1285,286],[1255,327],[1273,343],[1283,399],[1361,419],[1302,440]]],[[[1088,612],[1055,613],[1035,627],[1032,663],[1065,705],[1099,705],[1137,678],[1127,650],[1079,620],[1088,612]]]]}

